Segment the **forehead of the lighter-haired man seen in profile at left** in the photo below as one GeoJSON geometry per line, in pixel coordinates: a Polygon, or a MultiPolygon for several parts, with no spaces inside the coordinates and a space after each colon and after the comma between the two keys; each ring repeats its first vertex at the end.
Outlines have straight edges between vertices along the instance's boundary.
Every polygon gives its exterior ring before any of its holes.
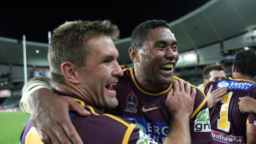
{"type": "Polygon", "coordinates": [[[92,37],[87,41],[87,46],[90,48],[89,54],[96,55],[96,57],[105,55],[118,57],[118,51],[115,48],[115,44],[108,36],[92,37]]]}

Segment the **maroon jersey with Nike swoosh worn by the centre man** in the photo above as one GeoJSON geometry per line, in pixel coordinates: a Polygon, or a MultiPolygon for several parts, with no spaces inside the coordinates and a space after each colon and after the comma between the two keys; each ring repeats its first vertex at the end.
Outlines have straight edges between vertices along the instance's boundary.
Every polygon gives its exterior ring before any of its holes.
{"type": "MultiPolygon", "coordinates": [[[[133,68],[124,69],[123,72],[124,76],[119,78],[117,85],[114,85],[118,106],[106,110],[106,113],[128,118],[152,139],[163,142],[172,118],[165,107],[165,98],[173,83],[161,91],[150,91],[139,85],[133,68]]],[[[180,78],[174,76],[174,79],[180,78]]],[[[202,91],[195,88],[197,95],[193,113],[189,118],[191,140],[193,144],[208,144],[212,142],[212,137],[207,100],[202,91]]]]}

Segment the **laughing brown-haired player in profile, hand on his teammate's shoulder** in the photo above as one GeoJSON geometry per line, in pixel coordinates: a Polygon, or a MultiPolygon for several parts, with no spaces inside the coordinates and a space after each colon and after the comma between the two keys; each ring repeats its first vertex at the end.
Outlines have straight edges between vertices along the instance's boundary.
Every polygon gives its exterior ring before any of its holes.
{"type": "MultiPolygon", "coordinates": [[[[113,42],[119,37],[117,26],[107,20],[74,21],[62,24],[53,33],[48,60],[54,92],[73,98],[91,112],[87,117],[79,116],[74,111],[69,112],[83,143],[155,144],[154,140],[129,120],[100,111],[100,108],[111,109],[118,104],[116,91],[112,87],[118,82],[118,77],[123,75],[117,63],[119,54],[113,42]]],[[[186,137],[190,137],[189,115],[193,111],[196,90],[193,88],[191,93],[189,84],[184,88],[182,81],[174,81],[174,85],[176,87],[168,93],[165,104],[171,113],[177,115],[170,123],[177,129],[169,131],[165,143],[190,143],[190,138],[182,137],[184,133],[186,137]],[[185,116],[179,116],[181,114],[185,116]]],[[[52,129],[57,127],[58,124],[52,129]]],[[[57,136],[58,133],[51,135],[57,136]]],[[[22,144],[42,143],[31,120],[24,128],[21,138],[22,144]]],[[[68,139],[59,142],[52,140],[51,143],[70,143],[66,140],[68,139]]]]}

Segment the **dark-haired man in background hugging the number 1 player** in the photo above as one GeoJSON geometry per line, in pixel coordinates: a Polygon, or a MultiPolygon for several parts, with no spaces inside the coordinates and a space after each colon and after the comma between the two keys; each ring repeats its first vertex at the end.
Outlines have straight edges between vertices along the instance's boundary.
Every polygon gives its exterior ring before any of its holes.
{"type": "MultiPolygon", "coordinates": [[[[198,85],[200,89],[203,89],[204,84],[206,84],[208,81],[226,79],[226,71],[221,65],[205,66],[203,70],[203,79],[204,83],[198,85]]],[[[221,100],[225,98],[223,95],[227,93],[227,89],[225,87],[221,87],[214,91],[212,91],[212,88],[213,87],[210,87],[208,93],[206,94],[209,109],[216,105],[216,103],[221,102],[221,100]]]]}

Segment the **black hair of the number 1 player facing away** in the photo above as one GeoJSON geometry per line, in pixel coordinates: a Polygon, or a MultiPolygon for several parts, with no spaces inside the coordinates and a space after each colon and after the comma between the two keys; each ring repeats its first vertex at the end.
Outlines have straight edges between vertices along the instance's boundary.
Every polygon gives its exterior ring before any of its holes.
{"type": "Polygon", "coordinates": [[[256,54],[255,50],[243,48],[240,50],[234,59],[236,72],[245,76],[256,76],[256,54]]]}

